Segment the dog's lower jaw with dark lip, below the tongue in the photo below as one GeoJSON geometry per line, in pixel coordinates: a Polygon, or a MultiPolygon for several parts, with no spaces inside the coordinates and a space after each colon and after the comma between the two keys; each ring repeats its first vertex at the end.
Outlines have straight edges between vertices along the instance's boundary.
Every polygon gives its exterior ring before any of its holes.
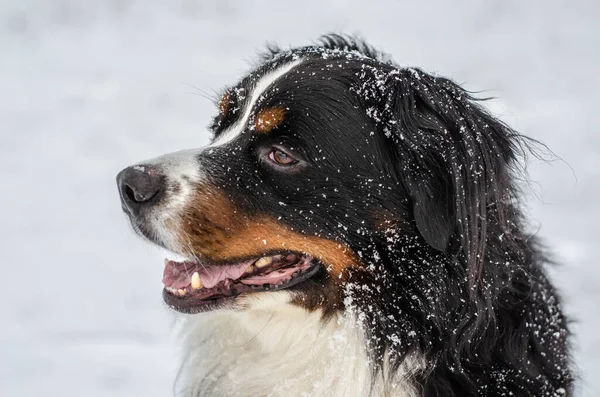
{"type": "Polygon", "coordinates": [[[219,296],[201,299],[194,295],[176,296],[163,289],[163,299],[165,303],[173,310],[185,314],[197,314],[214,310],[232,309],[236,306],[241,297],[250,296],[258,293],[268,293],[270,291],[281,291],[290,289],[316,275],[322,270],[322,266],[315,265],[305,270],[302,274],[292,278],[281,285],[270,285],[267,287],[252,288],[241,293],[233,293],[230,296],[219,296]]]}

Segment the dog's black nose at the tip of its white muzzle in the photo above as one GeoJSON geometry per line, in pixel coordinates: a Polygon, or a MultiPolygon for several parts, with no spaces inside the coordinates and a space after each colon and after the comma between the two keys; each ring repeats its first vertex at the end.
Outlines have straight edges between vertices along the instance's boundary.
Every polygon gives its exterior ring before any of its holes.
{"type": "Polygon", "coordinates": [[[164,177],[153,167],[134,165],[119,172],[117,185],[123,210],[137,215],[142,207],[159,200],[164,177]]]}

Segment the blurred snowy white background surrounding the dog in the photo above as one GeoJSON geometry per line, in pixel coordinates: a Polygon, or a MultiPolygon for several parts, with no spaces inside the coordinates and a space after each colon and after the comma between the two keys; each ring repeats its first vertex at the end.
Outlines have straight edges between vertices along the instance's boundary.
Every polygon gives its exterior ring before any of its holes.
{"type": "Polygon", "coordinates": [[[499,97],[564,160],[532,164],[528,208],[563,263],[578,396],[600,395],[599,21],[594,0],[0,0],[0,395],[172,393],[162,253],[129,230],[114,177],[205,144],[203,93],[267,41],[329,31],[499,97]]]}

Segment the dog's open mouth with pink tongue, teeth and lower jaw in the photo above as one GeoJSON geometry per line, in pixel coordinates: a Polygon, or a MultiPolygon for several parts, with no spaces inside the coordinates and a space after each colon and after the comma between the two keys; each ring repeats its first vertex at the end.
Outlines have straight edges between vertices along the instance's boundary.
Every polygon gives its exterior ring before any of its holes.
{"type": "Polygon", "coordinates": [[[242,293],[292,287],[319,269],[312,256],[295,253],[228,265],[165,260],[163,298],[174,310],[200,313],[224,307],[242,293]]]}

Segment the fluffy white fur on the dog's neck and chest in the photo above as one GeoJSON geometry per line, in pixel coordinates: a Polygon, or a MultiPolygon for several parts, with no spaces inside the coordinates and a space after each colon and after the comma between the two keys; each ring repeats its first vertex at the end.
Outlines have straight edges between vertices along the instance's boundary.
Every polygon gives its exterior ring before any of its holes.
{"type": "Polygon", "coordinates": [[[289,304],[285,292],[265,295],[247,310],[184,319],[181,395],[415,395],[418,360],[374,375],[364,333],[351,316],[324,321],[320,311],[289,304]]]}

